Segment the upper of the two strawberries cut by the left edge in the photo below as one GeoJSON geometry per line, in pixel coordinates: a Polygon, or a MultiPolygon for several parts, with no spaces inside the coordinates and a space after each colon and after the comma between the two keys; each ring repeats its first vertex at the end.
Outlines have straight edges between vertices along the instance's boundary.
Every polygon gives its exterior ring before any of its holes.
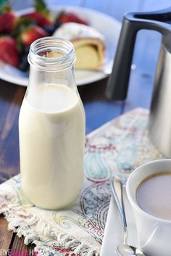
{"type": "Polygon", "coordinates": [[[0,15],[0,33],[11,32],[17,22],[17,15],[13,11],[4,12],[0,15]]]}

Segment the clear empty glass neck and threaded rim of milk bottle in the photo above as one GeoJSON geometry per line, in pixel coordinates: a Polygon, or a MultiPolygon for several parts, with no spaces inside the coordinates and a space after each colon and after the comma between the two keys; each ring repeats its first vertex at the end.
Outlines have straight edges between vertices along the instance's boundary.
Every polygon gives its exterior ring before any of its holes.
{"type": "Polygon", "coordinates": [[[28,91],[49,84],[64,85],[77,90],[73,65],[75,51],[70,41],[56,37],[40,38],[30,46],[28,91]]]}

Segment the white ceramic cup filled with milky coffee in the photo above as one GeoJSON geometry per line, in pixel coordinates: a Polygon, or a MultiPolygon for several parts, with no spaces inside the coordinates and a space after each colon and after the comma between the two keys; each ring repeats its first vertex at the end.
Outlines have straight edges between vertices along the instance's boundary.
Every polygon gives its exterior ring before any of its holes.
{"type": "Polygon", "coordinates": [[[171,159],[141,165],[130,174],[126,191],[135,217],[137,247],[147,256],[170,256],[171,159]]]}

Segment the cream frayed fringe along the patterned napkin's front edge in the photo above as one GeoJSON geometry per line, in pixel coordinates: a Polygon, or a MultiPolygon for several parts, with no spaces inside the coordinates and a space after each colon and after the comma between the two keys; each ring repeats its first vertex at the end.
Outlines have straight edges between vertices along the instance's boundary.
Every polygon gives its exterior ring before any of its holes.
{"type": "MultiPolygon", "coordinates": [[[[38,216],[27,212],[14,197],[14,194],[4,194],[4,191],[2,193],[0,193],[0,214],[7,219],[9,231],[16,232],[19,237],[24,236],[26,245],[36,244],[34,250],[38,251],[38,255],[58,255],[55,247],[64,247],[64,249],[72,251],[72,253],[68,252],[64,255],[99,256],[97,250],[81,243],[74,236],[57,230],[46,220],[41,220],[38,216]],[[48,236],[48,239],[45,241],[41,234],[48,236]]],[[[63,255],[62,252],[59,255],[63,255]]]]}

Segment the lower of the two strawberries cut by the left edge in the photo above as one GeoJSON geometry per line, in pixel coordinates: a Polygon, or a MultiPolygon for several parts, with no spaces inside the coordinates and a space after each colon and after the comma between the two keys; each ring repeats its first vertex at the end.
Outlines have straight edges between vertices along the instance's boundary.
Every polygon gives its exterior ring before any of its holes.
{"type": "Polygon", "coordinates": [[[14,67],[18,66],[19,54],[14,38],[10,36],[0,38],[0,59],[14,67]]]}

